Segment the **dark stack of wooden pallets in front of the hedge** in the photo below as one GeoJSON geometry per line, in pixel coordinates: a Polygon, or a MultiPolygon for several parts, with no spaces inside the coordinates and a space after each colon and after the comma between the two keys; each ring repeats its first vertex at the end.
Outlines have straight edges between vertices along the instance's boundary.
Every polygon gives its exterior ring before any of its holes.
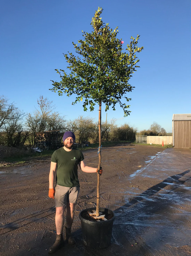
{"type": "Polygon", "coordinates": [[[40,149],[58,149],[61,145],[60,131],[44,131],[36,133],[36,146],[40,149]]]}

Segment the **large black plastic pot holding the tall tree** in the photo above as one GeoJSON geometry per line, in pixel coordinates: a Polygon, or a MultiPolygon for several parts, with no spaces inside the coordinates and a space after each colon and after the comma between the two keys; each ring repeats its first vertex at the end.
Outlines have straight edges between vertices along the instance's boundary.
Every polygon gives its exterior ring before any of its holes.
{"type": "Polygon", "coordinates": [[[106,221],[90,221],[84,219],[81,215],[83,212],[96,210],[95,207],[82,210],[79,214],[82,224],[82,236],[85,246],[94,249],[108,247],[111,243],[111,234],[115,213],[107,208],[99,208],[100,212],[108,212],[113,218],[106,221]]]}

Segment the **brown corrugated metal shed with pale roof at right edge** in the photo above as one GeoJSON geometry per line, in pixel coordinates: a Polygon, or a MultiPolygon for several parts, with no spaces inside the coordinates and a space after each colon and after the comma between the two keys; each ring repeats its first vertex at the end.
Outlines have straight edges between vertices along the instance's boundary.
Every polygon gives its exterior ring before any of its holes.
{"type": "Polygon", "coordinates": [[[175,148],[191,148],[191,114],[173,114],[172,136],[175,148]]]}

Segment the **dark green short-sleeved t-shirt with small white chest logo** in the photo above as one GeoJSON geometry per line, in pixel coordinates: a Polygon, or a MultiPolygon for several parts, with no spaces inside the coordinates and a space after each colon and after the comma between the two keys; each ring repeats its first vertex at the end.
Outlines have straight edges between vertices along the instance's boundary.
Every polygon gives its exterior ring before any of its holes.
{"type": "Polygon", "coordinates": [[[82,152],[77,148],[66,151],[62,147],[54,151],[51,162],[57,163],[56,183],[69,188],[79,186],[78,163],[83,159],[82,152]]]}

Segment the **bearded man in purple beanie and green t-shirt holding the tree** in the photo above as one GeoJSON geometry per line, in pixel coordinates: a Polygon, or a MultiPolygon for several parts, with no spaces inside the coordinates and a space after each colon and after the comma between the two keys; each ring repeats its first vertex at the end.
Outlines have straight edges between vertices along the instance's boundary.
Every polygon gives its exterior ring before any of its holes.
{"type": "Polygon", "coordinates": [[[62,230],[64,225],[65,207],[67,209],[65,239],[68,241],[68,244],[75,243],[75,239],[71,235],[71,226],[75,214],[74,208],[77,196],[80,191],[77,173],[78,165],[83,172],[98,172],[100,175],[102,173],[102,170],[97,171],[96,168],[85,165],[82,152],[73,148],[74,142],[75,135],[71,131],[67,131],[63,136],[64,146],[54,151],[51,158],[48,196],[54,199],[56,205],[55,224],[57,235],[55,243],[49,248],[49,253],[54,253],[63,246],[64,240],[62,230]],[[55,173],[56,187],[54,189],[53,183],[55,173]]]}

